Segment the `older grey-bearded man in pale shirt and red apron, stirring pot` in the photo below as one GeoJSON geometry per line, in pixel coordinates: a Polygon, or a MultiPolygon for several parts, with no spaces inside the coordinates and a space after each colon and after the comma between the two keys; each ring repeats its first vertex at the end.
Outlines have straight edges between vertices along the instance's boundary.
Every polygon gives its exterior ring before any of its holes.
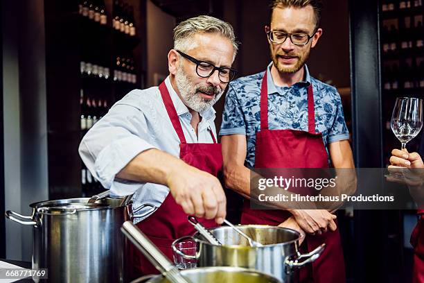
{"type": "MultiPolygon", "coordinates": [[[[171,243],[194,232],[187,214],[206,227],[226,216],[212,106],[236,74],[231,65],[237,49],[233,28],[220,19],[180,23],[168,53],[168,78],[115,103],[80,144],[82,160],[103,187],[134,194],[134,207],[144,215],[135,222],[170,258],[171,243]]],[[[157,273],[139,254],[134,266],[157,273]]]]}

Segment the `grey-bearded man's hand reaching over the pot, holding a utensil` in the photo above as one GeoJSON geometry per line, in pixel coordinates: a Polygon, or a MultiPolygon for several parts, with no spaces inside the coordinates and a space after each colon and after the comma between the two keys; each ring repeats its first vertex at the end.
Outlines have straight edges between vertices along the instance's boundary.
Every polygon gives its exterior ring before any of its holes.
{"type": "Polygon", "coordinates": [[[175,202],[182,206],[186,214],[215,218],[218,224],[224,221],[227,200],[220,181],[213,175],[193,166],[186,166],[184,169],[171,171],[166,185],[175,202]]]}

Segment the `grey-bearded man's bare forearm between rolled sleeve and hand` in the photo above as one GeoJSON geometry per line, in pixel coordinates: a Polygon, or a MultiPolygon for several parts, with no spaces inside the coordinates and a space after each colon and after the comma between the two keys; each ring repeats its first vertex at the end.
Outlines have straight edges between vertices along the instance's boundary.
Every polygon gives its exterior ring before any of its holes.
{"type": "Polygon", "coordinates": [[[168,175],[188,166],[184,161],[159,149],[143,151],[116,174],[117,178],[136,182],[152,182],[167,185],[168,175]]]}

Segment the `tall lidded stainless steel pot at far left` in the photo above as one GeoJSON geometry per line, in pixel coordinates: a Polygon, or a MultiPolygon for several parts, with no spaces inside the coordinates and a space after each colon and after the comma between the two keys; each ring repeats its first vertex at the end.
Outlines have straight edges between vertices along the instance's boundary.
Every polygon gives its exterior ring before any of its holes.
{"type": "Polygon", "coordinates": [[[33,269],[47,268],[49,282],[126,281],[129,243],[120,228],[135,217],[132,203],[121,206],[122,198],[87,203],[89,199],[33,203],[30,216],[6,212],[10,220],[33,226],[33,269]]]}

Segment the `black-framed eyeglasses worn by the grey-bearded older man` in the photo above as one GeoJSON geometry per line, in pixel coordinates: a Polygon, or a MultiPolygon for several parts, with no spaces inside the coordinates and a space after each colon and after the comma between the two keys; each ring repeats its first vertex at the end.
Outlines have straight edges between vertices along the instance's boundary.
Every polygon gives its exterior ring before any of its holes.
{"type": "Polygon", "coordinates": [[[209,78],[218,70],[218,77],[220,78],[221,83],[229,83],[236,77],[237,71],[235,69],[227,68],[227,67],[215,67],[211,63],[197,60],[196,58],[191,57],[191,55],[187,55],[184,52],[178,51],[184,58],[190,60],[196,65],[196,73],[197,76],[201,78],[209,78]]]}

